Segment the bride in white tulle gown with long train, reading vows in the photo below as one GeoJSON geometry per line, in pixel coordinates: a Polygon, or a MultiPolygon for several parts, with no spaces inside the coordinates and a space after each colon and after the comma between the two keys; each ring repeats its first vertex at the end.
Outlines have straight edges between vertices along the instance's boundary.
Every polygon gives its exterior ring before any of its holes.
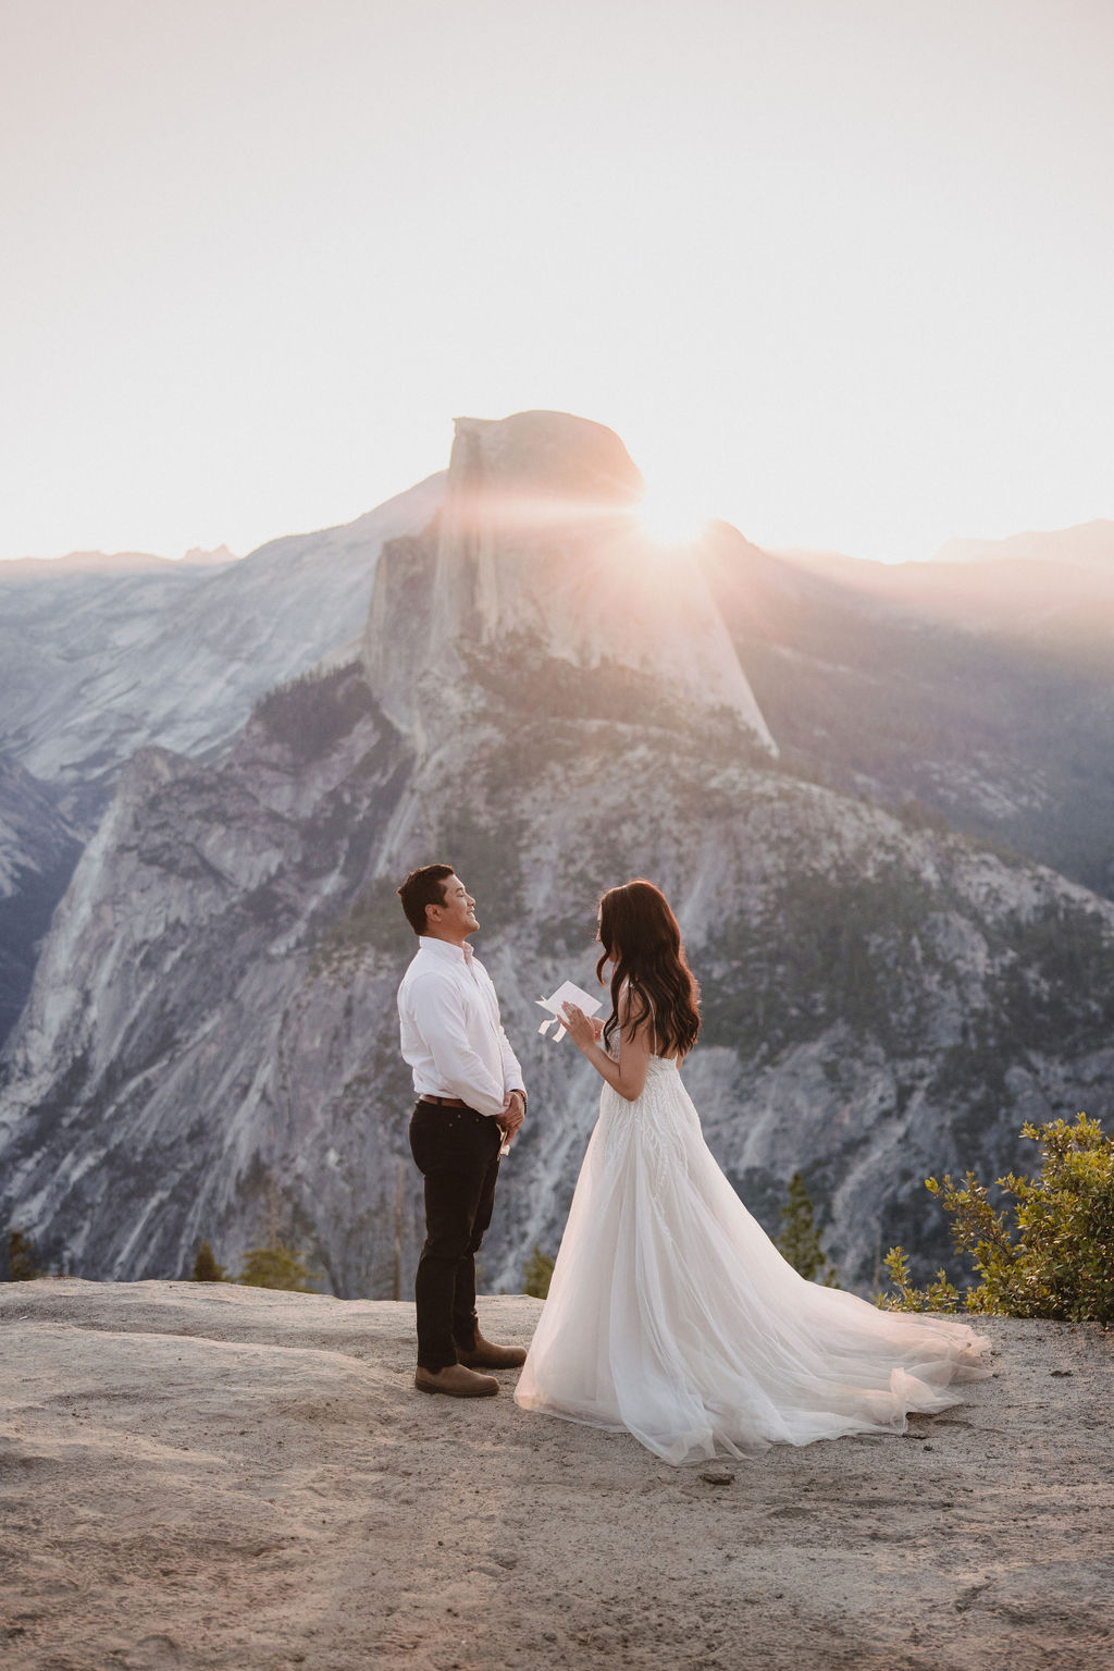
{"type": "Polygon", "coordinates": [[[600,1120],[516,1400],[675,1464],[900,1434],[960,1404],[945,1389],[990,1374],[984,1338],[805,1282],[711,1158],[678,1074],[700,989],[665,894],[613,887],[600,942],[611,1014],[565,1019],[605,1081],[600,1120]]]}

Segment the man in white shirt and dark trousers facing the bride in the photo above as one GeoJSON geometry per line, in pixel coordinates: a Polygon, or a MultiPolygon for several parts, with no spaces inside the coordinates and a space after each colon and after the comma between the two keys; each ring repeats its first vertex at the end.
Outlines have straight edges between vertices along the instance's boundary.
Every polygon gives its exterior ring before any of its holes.
{"type": "Polygon", "coordinates": [[[523,1123],[523,1069],[499,1001],[468,936],[476,901],[449,864],[411,871],[399,887],[418,954],[399,986],[403,1056],[418,1106],[409,1140],[426,1180],[426,1243],[418,1262],[419,1392],[479,1399],[499,1390],[486,1369],[516,1369],[519,1347],[479,1333],[476,1252],[491,1223],[499,1150],[523,1123]]]}

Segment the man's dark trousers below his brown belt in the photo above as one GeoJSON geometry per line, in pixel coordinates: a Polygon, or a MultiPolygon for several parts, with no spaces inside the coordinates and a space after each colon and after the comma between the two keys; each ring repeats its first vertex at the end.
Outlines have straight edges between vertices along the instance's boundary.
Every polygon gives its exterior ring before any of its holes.
{"type": "Polygon", "coordinates": [[[474,1108],[418,1103],[411,1153],[426,1180],[426,1243],[418,1260],[418,1362],[456,1364],[476,1343],[476,1253],[491,1223],[501,1128],[474,1108]]]}

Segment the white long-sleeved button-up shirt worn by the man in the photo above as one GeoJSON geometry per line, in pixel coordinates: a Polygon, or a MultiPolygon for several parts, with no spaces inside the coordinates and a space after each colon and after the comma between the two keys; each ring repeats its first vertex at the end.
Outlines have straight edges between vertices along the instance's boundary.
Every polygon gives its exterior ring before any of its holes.
{"type": "Polygon", "coordinates": [[[524,1091],[491,976],[471,946],[419,936],[399,986],[399,1028],[418,1096],[459,1096],[498,1118],[508,1093],[524,1091]]]}

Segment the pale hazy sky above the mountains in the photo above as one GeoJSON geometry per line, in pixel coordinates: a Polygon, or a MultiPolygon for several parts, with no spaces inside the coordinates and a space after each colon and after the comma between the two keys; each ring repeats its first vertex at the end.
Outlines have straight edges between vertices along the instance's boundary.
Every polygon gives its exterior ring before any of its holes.
{"type": "Polygon", "coordinates": [[[1114,516],[1114,0],[0,0],[0,556],[560,408],[767,545],[1114,516]]]}

